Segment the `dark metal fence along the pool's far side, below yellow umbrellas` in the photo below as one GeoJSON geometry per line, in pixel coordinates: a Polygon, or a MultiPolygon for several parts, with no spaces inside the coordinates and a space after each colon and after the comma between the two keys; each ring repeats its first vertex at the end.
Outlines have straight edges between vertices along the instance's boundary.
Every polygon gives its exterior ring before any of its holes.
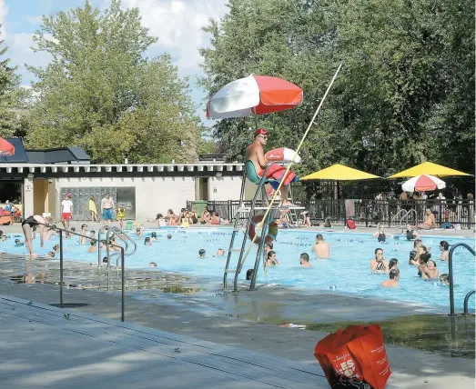
{"type": "MultiPolygon", "coordinates": [[[[365,223],[365,225],[383,223],[386,225],[421,224],[425,211],[431,210],[437,226],[444,223],[460,224],[461,228],[475,225],[475,204],[473,200],[310,200],[294,201],[304,206],[311,221],[316,223],[329,218],[332,222],[341,222],[347,218],[365,223]]],[[[193,202],[187,202],[191,209],[193,202]]],[[[244,201],[250,206],[251,201],[244,201]]],[[[257,201],[257,206],[263,203],[257,201]]],[[[238,211],[239,201],[209,201],[208,209],[218,212],[221,218],[232,220],[238,211]]],[[[241,216],[241,217],[244,217],[241,216]]]]}

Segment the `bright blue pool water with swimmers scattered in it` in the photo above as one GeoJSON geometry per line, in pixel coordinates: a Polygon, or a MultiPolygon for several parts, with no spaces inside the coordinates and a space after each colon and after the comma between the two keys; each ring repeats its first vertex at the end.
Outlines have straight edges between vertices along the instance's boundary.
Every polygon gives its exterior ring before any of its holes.
{"type": "MultiPolygon", "coordinates": [[[[413,242],[399,235],[400,239],[389,238],[386,243],[378,243],[371,234],[346,234],[320,232],[330,244],[330,259],[316,259],[312,250],[315,236],[319,232],[280,230],[278,240],[274,242],[274,251],[279,260],[278,266],[268,267],[263,271],[262,265],[258,273],[258,283],[280,284],[287,287],[304,289],[307,293],[326,291],[332,294],[346,294],[361,297],[370,297],[382,301],[396,301],[411,304],[423,304],[440,310],[448,310],[449,288],[438,280],[424,281],[418,276],[415,266],[408,264],[413,242]],[[390,258],[399,260],[400,287],[381,288],[381,281],[388,279],[388,274],[371,274],[370,260],[374,257],[374,250],[381,247],[387,261],[390,258]],[[299,254],[308,253],[311,258],[311,268],[299,266],[299,254]]],[[[157,263],[157,270],[193,274],[200,277],[221,280],[227,259],[224,256],[214,256],[218,248],[228,250],[230,228],[190,228],[190,229],[158,229],[147,230],[142,239],[137,239],[137,253],[126,258],[128,268],[148,268],[149,262],[157,263]],[[157,241],[151,246],[144,244],[144,237],[150,236],[152,231],[157,232],[157,241]],[[172,239],[167,240],[167,234],[172,239]],[[198,257],[198,250],[207,251],[205,259],[198,257]]],[[[12,236],[13,238],[13,236],[12,236]]],[[[14,240],[0,242],[0,251],[12,254],[26,254],[25,246],[15,247],[14,240]]],[[[20,237],[23,241],[23,236],[20,237]]],[[[423,244],[431,248],[432,258],[437,263],[440,274],[448,273],[448,264],[440,261],[439,244],[441,240],[449,244],[466,243],[474,247],[475,241],[462,237],[422,236],[423,244]]],[[[235,245],[241,239],[236,238],[235,245]]],[[[34,248],[37,254],[46,254],[52,250],[58,238],[53,237],[39,247],[39,239],[35,239],[34,248]]],[[[247,243],[248,248],[249,241],[247,243]]],[[[66,259],[81,262],[97,263],[97,253],[87,253],[88,244],[78,245],[77,237],[65,240],[66,259]]],[[[106,255],[106,250],[103,250],[106,255]]],[[[244,281],[246,270],[254,266],[256,250],[252,249],[243,267],[240,280],[244,281]]],[[[233,253],[230,267],[234,268],[238,253],[233,253]]],[[[474,256],[464,248],[459,248],[453,257],[453,278],[455,304],[461,312],[464,296],[474,289],[475,266],[474,256]]],[[[154,271],[155,269],[151,269],[154,271]]],[[[233,274],[228,274],[228,280],[233,274]]],[[[474,298],[470,300],[470,310],[474,311],[474,298]]]]}

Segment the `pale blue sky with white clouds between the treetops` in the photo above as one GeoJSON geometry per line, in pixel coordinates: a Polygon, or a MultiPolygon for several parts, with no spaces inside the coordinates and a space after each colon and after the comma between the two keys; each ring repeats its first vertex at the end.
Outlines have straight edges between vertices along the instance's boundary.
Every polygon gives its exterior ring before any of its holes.
{"type": "MultiPolygon", "coordinates": [[[[90,4],[104,9],[110,1],[90,0],[90,4]]],[[[11,64],[18,66],[22,85],[35,81],[25,64],[44,66],[50,60],[49,55],[31,49],[35,45],[33,35],[41,25],[42,15],[84,4],[85,0],[0,0],[0,33],[8,46],[7,56],[11,64]]],[[[201,28],[208,25],[209,18],[218,19],[225,15],[226,4],[227,0],[122,0],[124,8],[139,8],[142,24],[149,28],[150,35],[158,37],[157,44],[147,51],[147,57],[168,53],[172,55],[179,75],[190,77],[192,99],[199,105],[197,114],[205,125],[213,122],[205,118],[205,93],[196,85],[197,76],[201,75],[198,49],[209,46],[209,35],[201,28]]]]}

